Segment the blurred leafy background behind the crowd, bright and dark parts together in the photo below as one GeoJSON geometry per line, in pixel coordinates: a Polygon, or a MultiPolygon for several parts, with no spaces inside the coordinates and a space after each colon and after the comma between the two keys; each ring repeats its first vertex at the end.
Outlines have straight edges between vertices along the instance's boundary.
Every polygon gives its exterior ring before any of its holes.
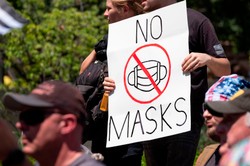
{"type": "MultiPolygon", "coordinates": [[[[2,3],[2,2],[1,2],[2,3]]],[[[104,0],[7,0],[27,22],[0,36],[0,97],[26,93],[44,80],[74,82],[80,64],[107,33],[104,0]]],[[[231,62],[232,73],[250,79],[250,1],[187,0],[213,23],[231,62]]],[[[218,78],[208,71],[209,85],[218,78]]],[[[0,116],[16,115],[0,102],[0,116]]],[[[14,125],[13,125],[14,128],[14,125]]],[[[210,143],[203,131],[200,147],[210,143]]],[[[199,151],[198,149],[198,151],[199,151]]]]}

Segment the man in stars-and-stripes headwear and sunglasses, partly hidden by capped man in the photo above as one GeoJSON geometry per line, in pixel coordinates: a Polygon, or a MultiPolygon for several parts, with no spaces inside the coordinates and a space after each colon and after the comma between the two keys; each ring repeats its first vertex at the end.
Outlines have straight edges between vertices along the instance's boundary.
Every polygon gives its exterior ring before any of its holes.
{"type": "Polygon", "coordinates": [[[195,163],[196,166],[218,165],[221,158],[219,149],[221,144],[223,145],[227,140],[226,130],[219,129],[221,127],[218,128],[218,126],[224,123],[223,116],[218,113],[210,113],[210,109],[207,109],[206,102],[229,101],[234,94],[244,89],[250,89],[250,82],[236,74],[232,74],[222,76],[206,92],[205,103],[203,104],[203,117],[205,119],[207,135],[217,143],[204,148],[195,163]],[[216,116],[214,114],[216,114],[216,116]]]}

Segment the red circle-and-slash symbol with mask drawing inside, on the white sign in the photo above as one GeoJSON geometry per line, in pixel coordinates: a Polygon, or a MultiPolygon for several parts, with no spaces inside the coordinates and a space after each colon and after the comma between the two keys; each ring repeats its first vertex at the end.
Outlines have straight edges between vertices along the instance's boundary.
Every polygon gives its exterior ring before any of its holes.
{"type": "Polygon", "coordinates": [[[125,65],[125,90],[135,102],[151,103],[165,91],[170,75],[166,49],[159,44],[147,44],[137,48],[125,65]]]}

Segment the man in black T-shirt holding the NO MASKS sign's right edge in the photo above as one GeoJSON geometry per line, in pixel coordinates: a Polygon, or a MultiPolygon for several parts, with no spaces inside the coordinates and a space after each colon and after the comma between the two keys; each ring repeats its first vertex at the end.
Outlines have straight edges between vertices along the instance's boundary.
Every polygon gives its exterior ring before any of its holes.
{"type": "MultiPolygon", "coordinates": [[[[147,12],[176,3],[176,0],[144,0],[147,12]]],[[[215,76],[230,74],[230,63],[207,17],[187,9],[189,52],[182,63],[191,73],[191,131],[144,143],[147,166],[192,166],[203,125],[202,103],[208,89],[207,67],[215,76]]]]}

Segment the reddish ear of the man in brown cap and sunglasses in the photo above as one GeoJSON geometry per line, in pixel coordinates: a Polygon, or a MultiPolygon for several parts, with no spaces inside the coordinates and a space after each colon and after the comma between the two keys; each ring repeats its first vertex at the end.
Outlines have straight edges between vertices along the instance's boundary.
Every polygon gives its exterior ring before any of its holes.
{"type": "Polygon", "coordinates": [[[60,122],[61,133],[68,134],[71,133],[77,127],[77,118],[73,114],[63,115],[62,121],[60,122]]]}

